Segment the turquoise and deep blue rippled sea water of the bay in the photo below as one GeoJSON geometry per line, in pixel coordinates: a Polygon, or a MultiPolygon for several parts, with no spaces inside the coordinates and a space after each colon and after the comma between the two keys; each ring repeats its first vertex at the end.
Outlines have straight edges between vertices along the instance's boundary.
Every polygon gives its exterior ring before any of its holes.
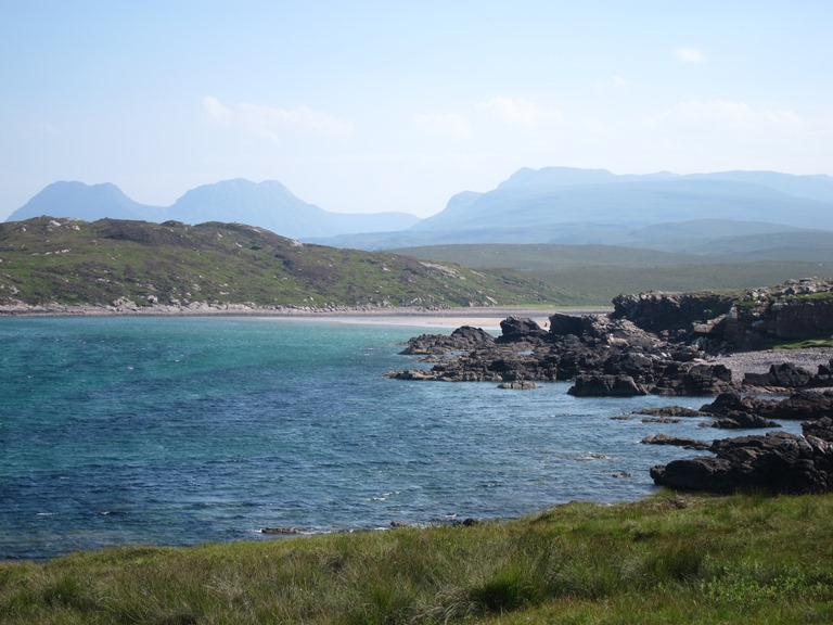
{"type": "MultiPolygon", "coordinates": [[[[512,519],[655,492],[688,397],[402,381],[419,320],[0,319],[0,560],[512,519]],[[264,533],[274,528],[274,534],[264,533]]],[[[497,330],[495,329],[496,333],[497,330]]],[[[732,432],[731,435],[744,432],[732,432]]]]}

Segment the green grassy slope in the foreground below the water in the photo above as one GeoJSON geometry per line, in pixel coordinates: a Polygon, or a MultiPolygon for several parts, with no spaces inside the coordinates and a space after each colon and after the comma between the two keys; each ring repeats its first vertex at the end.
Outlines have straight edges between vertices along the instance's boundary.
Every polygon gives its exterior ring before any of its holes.
{"type": "Polygon", "coordinates": [[[0,564],[3,623],[830,623],[833,496],[0,564]]]}

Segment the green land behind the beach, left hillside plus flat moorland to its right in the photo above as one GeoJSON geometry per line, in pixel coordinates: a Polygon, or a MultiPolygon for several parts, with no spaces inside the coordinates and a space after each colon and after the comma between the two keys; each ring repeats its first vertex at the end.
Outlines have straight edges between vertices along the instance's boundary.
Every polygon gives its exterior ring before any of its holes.
{"type": "Polygon", "coordinates": [[[611,245],[369,253],[219,222],[39,217],[0,224],[0,306],[608,306],[620,293],[762,286],[826,267],[611,245]]]}

